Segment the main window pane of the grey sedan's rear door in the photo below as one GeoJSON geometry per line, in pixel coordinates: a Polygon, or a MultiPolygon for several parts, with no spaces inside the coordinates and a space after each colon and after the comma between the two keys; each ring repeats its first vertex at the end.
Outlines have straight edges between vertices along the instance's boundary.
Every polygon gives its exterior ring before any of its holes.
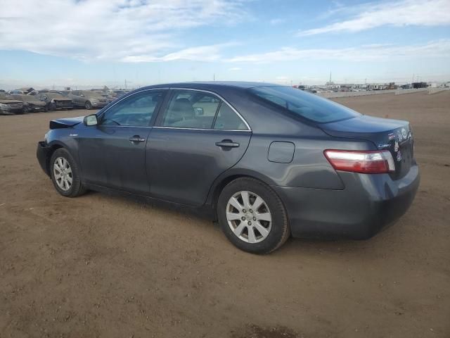
{"type": "Polygon", "coordinates": [[[210,129],[219,108],[214,94],[193,90],[175,90],[162,117],[163,127],[210,129]]]}

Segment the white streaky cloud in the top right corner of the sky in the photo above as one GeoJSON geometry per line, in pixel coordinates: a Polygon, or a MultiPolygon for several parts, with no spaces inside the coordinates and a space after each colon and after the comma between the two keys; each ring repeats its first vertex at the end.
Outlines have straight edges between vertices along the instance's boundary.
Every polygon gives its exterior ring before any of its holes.
{"type": "Polygon", "coordinates": [[[361,7],[361,12],[350,20],[298,32],[298,35],[316,35],[328,32],[359,32],[384,25],[405,26],[450,25],[449,0],[403,0],[361,7]]]}

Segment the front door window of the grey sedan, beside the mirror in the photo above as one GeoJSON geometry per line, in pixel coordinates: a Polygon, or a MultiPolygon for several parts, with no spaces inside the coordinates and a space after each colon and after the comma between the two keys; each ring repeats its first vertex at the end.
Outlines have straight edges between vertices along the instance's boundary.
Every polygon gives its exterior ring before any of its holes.
{"type": "Polygon", "coordinates": [[[160,90],[131,95],[109,108],[103,115],[101,125],[148,127],[161,100],[160,90]]]}

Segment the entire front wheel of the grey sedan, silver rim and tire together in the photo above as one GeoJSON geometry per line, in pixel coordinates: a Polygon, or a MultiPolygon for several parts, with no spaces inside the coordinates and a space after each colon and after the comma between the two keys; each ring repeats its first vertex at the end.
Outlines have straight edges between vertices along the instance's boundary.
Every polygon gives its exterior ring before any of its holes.
{"type": "Polygon", "coordinates": [[[53,152],[50,173],[53,185],[61,195],[76,197],[86,192],[79,176],[78,165],[67,150],[60,148],[53,152]]]}

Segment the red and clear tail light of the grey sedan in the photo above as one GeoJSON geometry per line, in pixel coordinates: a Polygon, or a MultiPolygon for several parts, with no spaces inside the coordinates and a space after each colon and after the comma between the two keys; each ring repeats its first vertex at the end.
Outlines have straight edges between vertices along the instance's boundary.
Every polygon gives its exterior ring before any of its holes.
{"type": "Polygon", "coordinates": [[[382,174],[395,171],[394,158],[388,150],[351,151],[328,149],[323,151],[335,170],[352,173],[382,174]]]}

